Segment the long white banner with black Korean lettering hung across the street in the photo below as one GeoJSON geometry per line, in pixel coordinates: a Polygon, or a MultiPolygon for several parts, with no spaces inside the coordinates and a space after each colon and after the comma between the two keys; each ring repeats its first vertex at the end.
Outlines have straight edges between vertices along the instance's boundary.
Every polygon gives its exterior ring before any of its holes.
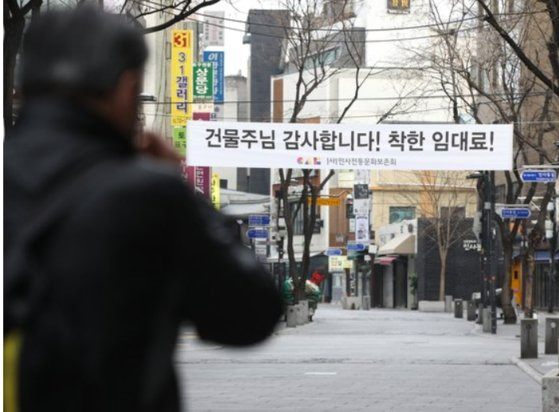
{"type": "Polygon", "coordinates": [[[189,166],[511,170],[512,125],[188,122],[189,166]]]}

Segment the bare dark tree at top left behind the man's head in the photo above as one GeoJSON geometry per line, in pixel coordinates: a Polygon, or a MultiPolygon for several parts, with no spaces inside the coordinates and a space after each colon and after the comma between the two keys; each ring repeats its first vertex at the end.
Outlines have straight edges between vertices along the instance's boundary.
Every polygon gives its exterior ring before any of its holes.
{"type": "MultiPolygon", "coordinates": [[[[219,3],[221,0],[124,0],[119,10],[132,19],[141,19],[146,15],[166,12],[166,21],[153,27],[144,27],[145,34],[167,29],[185,20],[192,14],[219,3]],[[139,11],[131,13],[136,8],[139,11]]],[[[66,8],[72,8],[86,3],[85,0],[69,1],[63,3],[66,8]]],[[[103,7],[103,1],[97,4],[103,7]]],[[[18,96],[15,90],[15,70],[17,56],[21,50],[23,33],[28,20],[38,16],[42,10],[43,0],[6,0],[4,2],[4,128],[10,130],[14,125],[14,103],[18,96]]]]}

